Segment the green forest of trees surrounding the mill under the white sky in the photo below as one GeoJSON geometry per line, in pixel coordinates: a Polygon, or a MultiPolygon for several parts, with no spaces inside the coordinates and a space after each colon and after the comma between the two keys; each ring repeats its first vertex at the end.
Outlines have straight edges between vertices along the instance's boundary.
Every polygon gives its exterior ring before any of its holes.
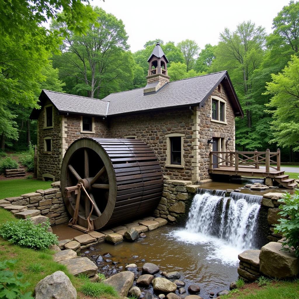
{"type": "Polygon", "coordinates": [[[274,16],[270,34],[244,21],[232,31],[219,28],[217,45],[200,49],[193,40],[175,44],[157,36],[135,53],[123,22],[100,7],[53,0],[52,6],[63,8],[57,13],[48,1],[39,7],[1,3],[2,149],[36,144],[36,121],[29,115],[42,89],[102,99],[144,87],[147,59],[158,41],[169,60],[170,81],[228,71],[245,113],[236,118],[236,149],[280,147],[283,161],[299,160],[299,2],[290,1],[274,16]],[[49,29],[41,26],[45,16],[49,29]]]}

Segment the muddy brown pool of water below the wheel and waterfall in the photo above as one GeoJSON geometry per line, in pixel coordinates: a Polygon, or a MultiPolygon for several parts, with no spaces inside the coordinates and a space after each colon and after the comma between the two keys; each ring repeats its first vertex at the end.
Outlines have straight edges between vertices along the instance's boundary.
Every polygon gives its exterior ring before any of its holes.
{"type": "MultiPolygon", "coordinates": [[[[190,284],[198,284],[201,288],[199,295],[202,298],[209,298],[210,292],[216,294],[223,289],[229,289],[229,284],[238,278],[237,264],[228,265],[219,260],[207,259],[209,246],[186,244],[169,235],[178,229],[180,228],[177,226],[165,225],[146,232],[146,238],[139,238],[135,242],[124,241],[117,245],[101,243],[83,250],[81,256],[94,261],[99,273],[105,274],[106,277],[125,270],[127,264],[135,263],[138,270],[134,271],[134,286],[136,279],[141,275],[142,265],[149,262],[159,266],[159,273],[179,271],[180,280],[186,283],[184,288],[187,290],[190,284]],[[104,257],[107,253],[111,256],[104,257]],[[104,260],[101,263],[97,263],[99,255],[104,260]]],[[[161,277],[161,274],[155,274],[155,277],[161,277]]],[[[153,293],[152,287],[140,289],[142,292],[153,293]]],[[[178,290],[176,294],[179,295],[178,290]]],[[[189,295],[188,291],[184,295],[189,295]]]]}

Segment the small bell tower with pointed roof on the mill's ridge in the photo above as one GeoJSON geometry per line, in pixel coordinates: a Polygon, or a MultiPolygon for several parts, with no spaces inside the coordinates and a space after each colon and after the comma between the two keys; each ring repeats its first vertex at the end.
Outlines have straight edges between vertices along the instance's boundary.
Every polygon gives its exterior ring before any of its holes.
{"type": "Polygon", "coordinates": [[[149,63],[149,70],[147,74],[147,86],[145,86],[143,93],[156,92],[164,84],[169,82],[169,76],[167,75],[167,63],[169,62],[160,46],[157,42],[152,54],[147,60],[149,63]]]}

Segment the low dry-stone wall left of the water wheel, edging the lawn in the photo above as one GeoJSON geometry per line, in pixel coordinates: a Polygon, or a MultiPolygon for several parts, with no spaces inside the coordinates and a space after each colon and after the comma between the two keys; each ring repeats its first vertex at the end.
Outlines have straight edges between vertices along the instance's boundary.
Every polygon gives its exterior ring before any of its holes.
{"type": "MultiPolygon", "coordinates": [[[[51,186],[52,188],[47,190],[36,190],[17,197],[4,198],[1,206],[5,207],[10,203],[15,206],[24,206],[28,210],[39,210],[42,216],[49,218],[51,225],[68,222],[69,216],[60,192],[60,182],[52,183],[51,186]]],[[[16,210],[16,213],[18,212],[16,210]]]]}

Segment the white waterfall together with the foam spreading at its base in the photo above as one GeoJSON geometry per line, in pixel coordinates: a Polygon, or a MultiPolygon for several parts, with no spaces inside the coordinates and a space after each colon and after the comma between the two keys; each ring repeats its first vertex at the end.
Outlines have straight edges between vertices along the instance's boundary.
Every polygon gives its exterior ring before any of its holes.
{"type": "Polygon", "coordinates": [[[238,254],[255,246],[255,228],[262,196],[237,193],[232,197],[207,192],[196,194],[186,228],[170,235],[181,242],[206,245],[207,260],[237,264],[238,254]]]}

